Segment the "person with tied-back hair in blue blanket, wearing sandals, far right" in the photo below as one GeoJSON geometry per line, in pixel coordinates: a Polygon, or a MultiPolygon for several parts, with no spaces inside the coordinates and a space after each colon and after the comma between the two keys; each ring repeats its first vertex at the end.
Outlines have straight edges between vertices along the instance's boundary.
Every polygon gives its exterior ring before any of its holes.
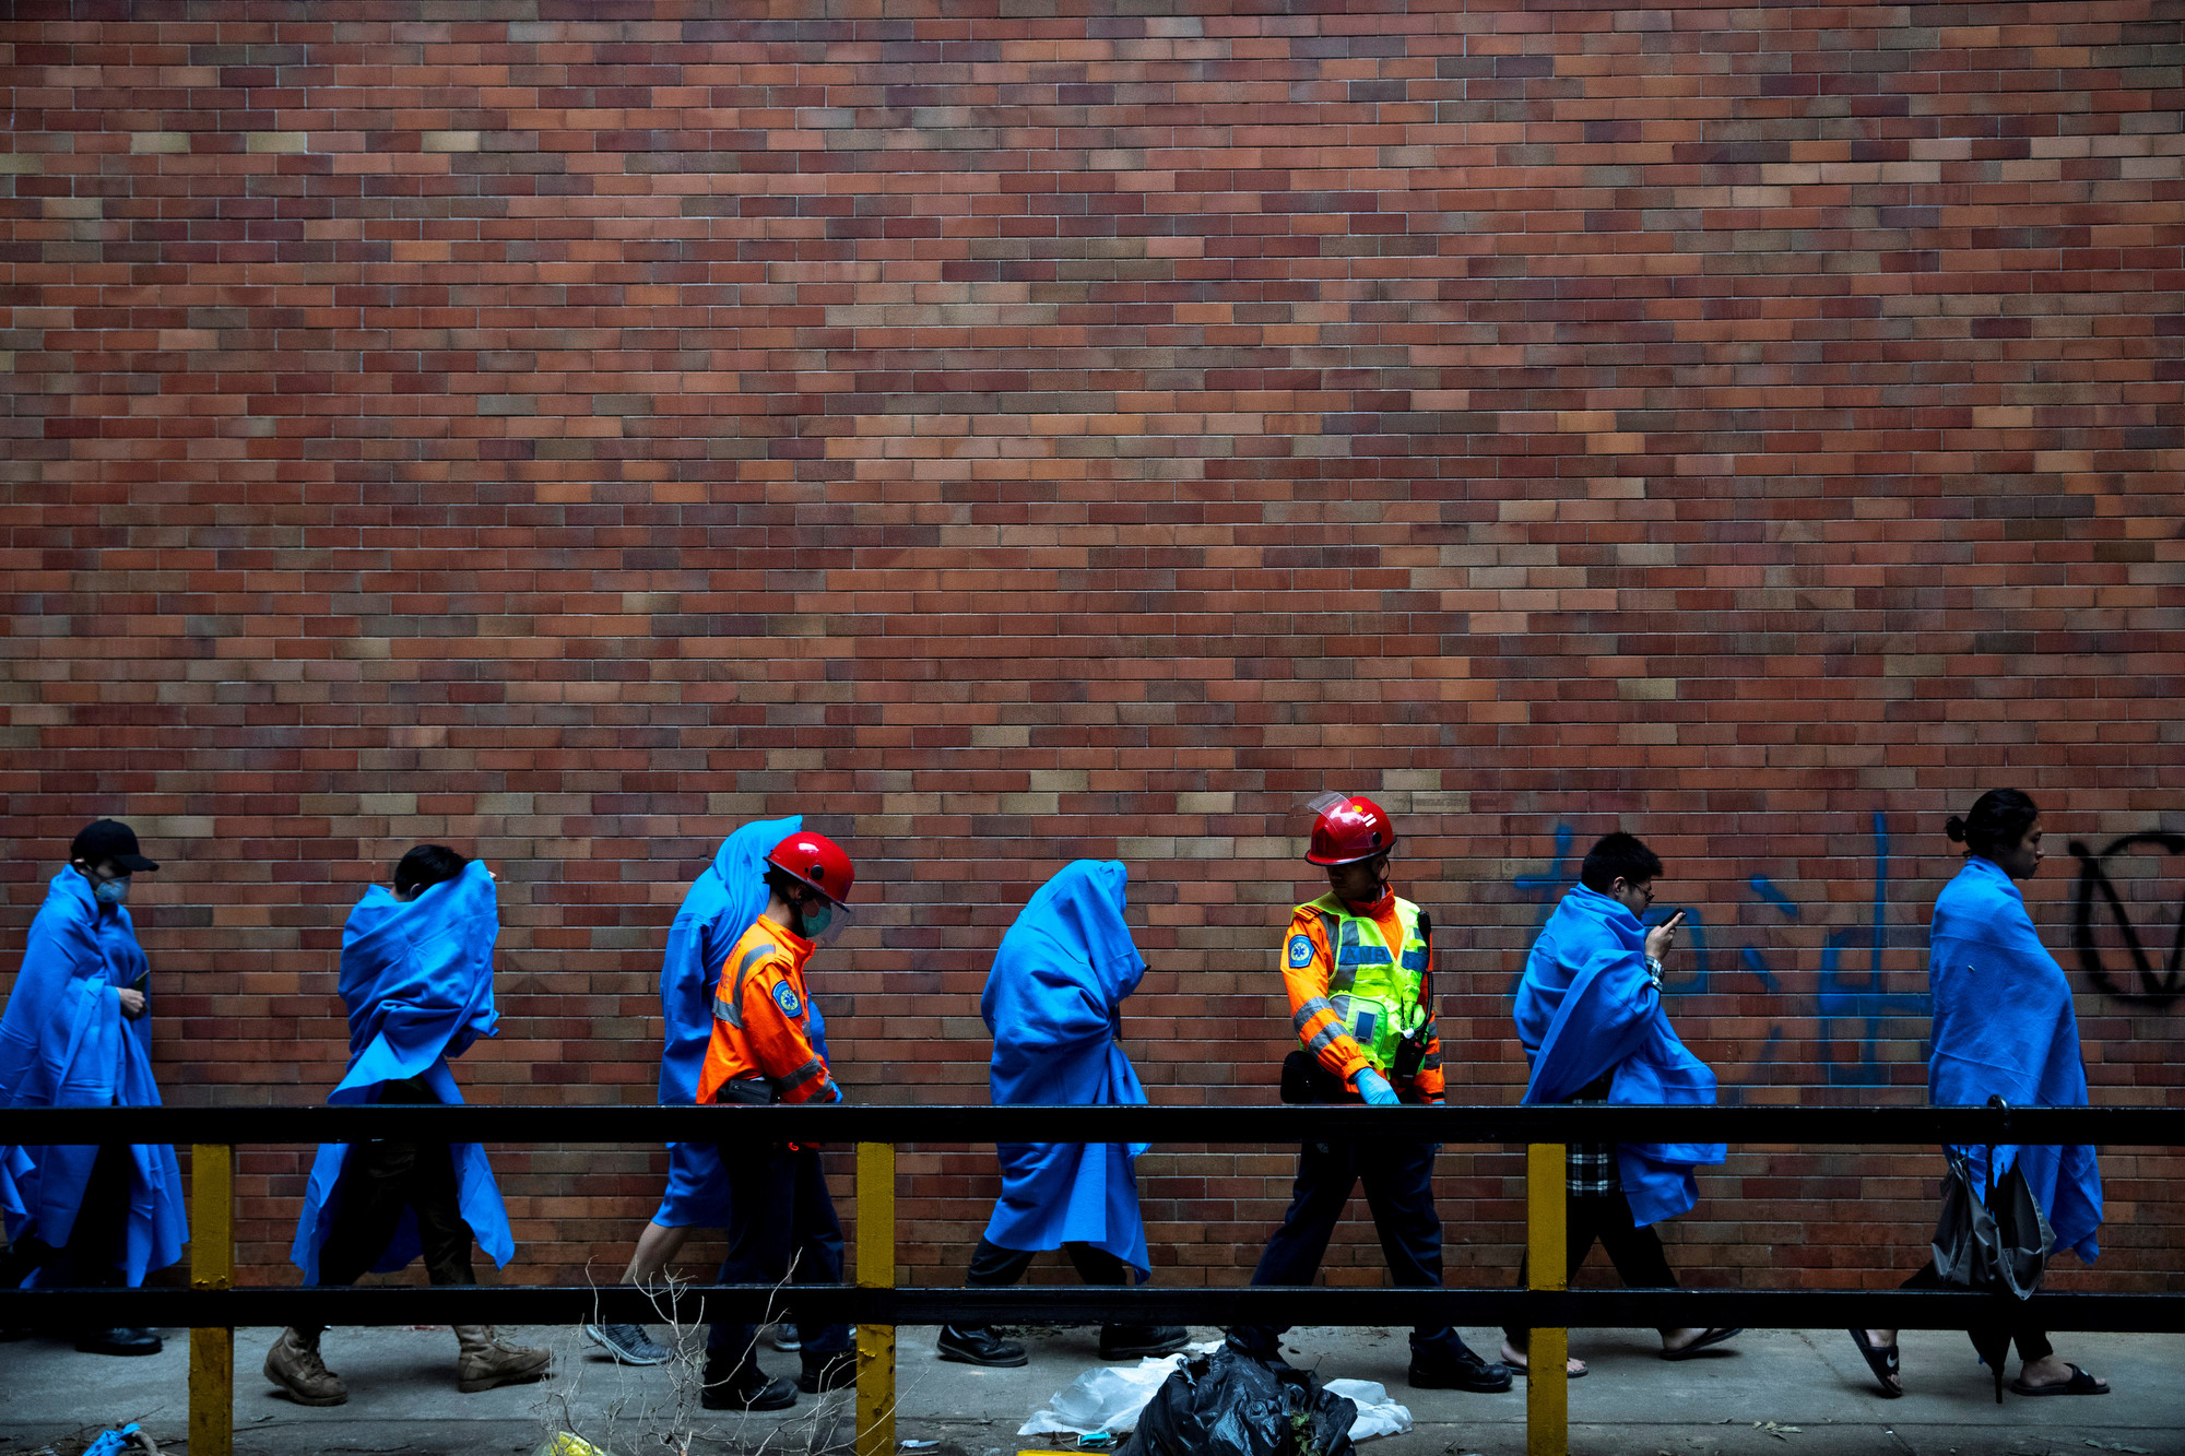
{"type": "MultiPolygon", "coordinates": [[[[2012,1106],[2087,1106],[2087,1062],[2078,1049],[2078,1014],[2063,966],[2041,944],[2017,881],[2041,870],[2041,809],[2017,789],[1991,789],[1962,820],[1945,824],[1964,844],[1964,868],[1942,888],[1927,931],[1927,988],[1934,995],[1934,1052],[1927,1102],[1982,1106],[2001,1095],[2012,1106]]],[[[1953,1148],[1971,1165],[1973,1187],[1988,1185],[1988,1148],[1953,1148]]],[[[2010,1167],[2056,1233],[2087,1264],[2100,1253],[2102,1172],[2093,1148],[1995,1148],[1995,1176],[2010,1167]]],[[[1905,1279],[1908,1290],[1947,1288],[1929,1259],[1905,1279]]],[[[2001,1369],[2019,1347],[2019,1395],[2109,1395],[2109,1382],[2056,1355],[2030,1325],[1973,1329],[1973,1349],[2001,1369]]],[[[1881,1395],[1903,1395],[1894,1329],[1853,1329],[1881,1395]]],[[[2001,1375],[1997,1375],[2001,1379],[2001,1375]]],[[[1997,1395],[2001,1399],[2001,1395],[1997,1395]]]]}

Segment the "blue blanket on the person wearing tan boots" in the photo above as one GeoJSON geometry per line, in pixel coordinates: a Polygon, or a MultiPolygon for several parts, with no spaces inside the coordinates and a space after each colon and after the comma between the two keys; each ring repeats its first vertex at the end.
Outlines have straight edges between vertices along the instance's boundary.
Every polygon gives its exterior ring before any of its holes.
{"type": "MultiPolygon", "coordinates": [[[[485,861],[402,903],[374,885],[341,929],[341,999],[350,1008],[350,1069],[328,1102],[378,1102],[387,1082],[422,1078],[444,1104],[459,1104],[448,1058],[494,1034],[494,940],[500,905],[485,861]]],[[[509,1213],[479,1143],[450,1143],[457,1207],[494,1264],[516,1253],[509,1213]]],[[[319,1281],[319,1248],[334,1231],[347,1143],[319,1143],[304,1187],[304,1213],[288,1257],[304,1283],[319,1281]]],[[[417,1257],[417,1218],[402,1216],[371,1268],[391,1275],[417,1257]]]]}

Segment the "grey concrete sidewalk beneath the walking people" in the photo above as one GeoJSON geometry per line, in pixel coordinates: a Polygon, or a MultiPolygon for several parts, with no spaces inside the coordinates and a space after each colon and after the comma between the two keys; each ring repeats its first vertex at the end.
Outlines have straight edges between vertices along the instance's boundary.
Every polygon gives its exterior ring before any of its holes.
{"type": "MultiPolygon", "coordinates": [[[[188,1434],[188,1334],[166,1331],[166,1353],[144,1360],[79,1355],[59,1340],[0,1345],[0,1456],[81,1452],[101,1423],[144,1421],[164,1449],[188,1434]]],[[[529,1456],[548,1430],[575,1430],[616,1456],[675,1449],[846,1449],[850,1393],[802,1397],[782,1417],[697,1410],[677,1366],[618,1369],[575,1329],[509,1331],[557,1351],[544,1384],[459,1395],[454,1336],[446,1329],[334,1329],[328,1362],[350,1404],[310,1410],[273,1393],[260,1362],[275,1331],[236,1331],[236,1449],[245,1456],[374,1452],[411,1456],[529,1456]]],[[[656,1327],[658,1334],[658,1327],[656,1327]]],[[[1016,1428],[1082,1371],[1103,1364],[1097,1331],[1027,1336],[1031,1364],[979,1371],[933,1358],[933,1329],[902,1329],[896,1434],[935,1441],[931,1456],[1016,1456],[1075,1449],[1066,1436],[1016,1428]]],[[[1215,1331],[1193,1331],[1215,1338],[1215,1331]]],[[[1495,1331],[1466,1329],[1492,1351],[1495,1331]]],[[[1412,1390],[1405,1331],[1298,1329],[1294,1364],[1324,1377],[1374,1379],[1412,1410],[1412,1434],[1370,1441],[1366,1456],[1521,1456],[1525,1384],[1508,1395],[1412,1390]]],[[[2104,1397],[1997,1406],[1986,1371],[1960,1334],[1905,1331],[1905,1386],[1879,1399],[1842,1329],[1750,1331],[1709,1355],[1667,1364],[1652,1331],[1578,1331],[1573,1353],[1593,1373],[1571,1384],[1571,1449],[1582,1456],[2084,1456],[2089,1449],[2185,1456],[2185,1336],[2058,1336],[2067,1360],[2106,1375],[2104,1397]],[[1774,1430],[1768,1423],[1774,1423],[1774,1430]],[[1787,1430],[1796,1428],[1796,1430],[1787,1430]]],[[[695,1342],[693,1342],[695,1349],[695,1342]]],[[[773,1373],[798,1358],[767,1351],[773,1373]]],[[[2015,1373],[2015,1366],[2012,1366],[2015,1373]]]]}

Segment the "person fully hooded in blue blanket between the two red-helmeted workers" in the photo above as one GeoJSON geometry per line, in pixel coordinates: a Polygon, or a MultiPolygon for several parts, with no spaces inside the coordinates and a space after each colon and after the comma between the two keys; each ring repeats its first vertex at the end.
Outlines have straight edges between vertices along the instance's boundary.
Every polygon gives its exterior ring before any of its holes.
{"type": "MultiPolygon", "coordinates": [[[[1038,888],[1001,938],[979,1014],[994,1034],[988,1082],[994,1106],[1143,1104],[1145,1087],[1123,1056],[1123,1001],[1145,960],[1123,923],[1114,859],[1079,859],[1038,888]]],[[[970,1285],[1009,1285],[1031,1255],[1062,1248],[1086,1283],[1141,1283],[1151,1275],[1138,1181],[1145,1143],[1001,1143],[1001,1198],[970,1257],[970,1285]]],[[[1167,1355],[1191,1336],[1182,1325],[1103,1325],[1101,1360],[1167,1355]]],[[[1025,1347],[983,1325],[944,1325],[942,1360],[1025,1364],[1025,1347]]]]}

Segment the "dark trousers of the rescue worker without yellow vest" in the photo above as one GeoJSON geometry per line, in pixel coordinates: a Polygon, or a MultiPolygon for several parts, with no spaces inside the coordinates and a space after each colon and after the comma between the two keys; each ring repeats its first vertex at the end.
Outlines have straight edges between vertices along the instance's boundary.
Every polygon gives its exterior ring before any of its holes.
{"type": "MultiPolygon", "coordinates": [[[[717,1283],[841,1283],[841,1222],[817,1148],[721,1143],[721,1167],[728,1172],[728,1257],[717,1283]]],[[[795,1303],[791,1294],[791,1312],[795,1303]]],[[[758,1329],[714,1320],[706,1353],[736,1362],[728,1379],[758,1375],[752,1358],[758,1329]]],[[[848,1325],[798,1316],[798,1338],[804,1340],[804,1364],[850,1349],[848,1325]]]]}

